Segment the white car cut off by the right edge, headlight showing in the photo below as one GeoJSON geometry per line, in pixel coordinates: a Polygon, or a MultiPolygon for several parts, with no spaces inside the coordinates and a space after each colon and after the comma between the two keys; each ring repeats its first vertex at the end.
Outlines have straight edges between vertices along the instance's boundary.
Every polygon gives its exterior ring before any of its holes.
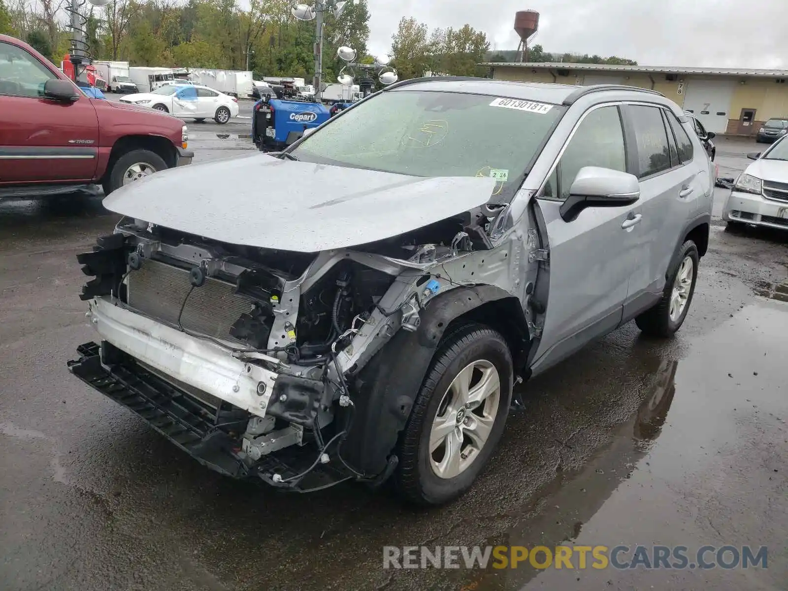
{"type": "Polygon", "coordinates": [[[753,224],[788,229],[788,141],[778,139],[739,175],[730,191],[723,220],[729,226],[753,224]]]}

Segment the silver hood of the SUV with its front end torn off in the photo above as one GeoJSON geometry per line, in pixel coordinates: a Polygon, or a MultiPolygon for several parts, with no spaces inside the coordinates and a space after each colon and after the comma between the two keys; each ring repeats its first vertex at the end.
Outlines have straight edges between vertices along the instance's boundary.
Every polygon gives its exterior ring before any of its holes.
{"type": "Polygon", "coordinates": [[[408,177],[252,154],[156,173],[104,206],[221,242],[318,252],[383,240],[487,203],[489,177],[408,177]]]}

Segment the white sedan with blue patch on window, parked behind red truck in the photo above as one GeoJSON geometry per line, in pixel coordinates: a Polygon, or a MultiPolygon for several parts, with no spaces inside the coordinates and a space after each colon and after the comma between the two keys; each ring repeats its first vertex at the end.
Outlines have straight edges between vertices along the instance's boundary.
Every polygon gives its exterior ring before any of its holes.
{"type": "Polygon", "coordinates": [[[197,84],[166,84],[151,92],[127,95],[121,102],[147,106],[180,119],[195,121],[214,119],[225,124],[230,117],[238,116],[238,99],[197,84]]]}

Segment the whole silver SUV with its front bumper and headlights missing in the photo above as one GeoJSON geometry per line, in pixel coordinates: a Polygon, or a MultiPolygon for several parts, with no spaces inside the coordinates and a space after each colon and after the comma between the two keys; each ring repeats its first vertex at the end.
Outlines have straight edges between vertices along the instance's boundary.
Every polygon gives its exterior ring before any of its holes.
{"type": "Polygon", "coordinates": [[[444,503],[519,377],[678,330],[713,176],[654,91],[407,80],[286,152],[113,192],[69,367],[223,474],[444,503]]]}

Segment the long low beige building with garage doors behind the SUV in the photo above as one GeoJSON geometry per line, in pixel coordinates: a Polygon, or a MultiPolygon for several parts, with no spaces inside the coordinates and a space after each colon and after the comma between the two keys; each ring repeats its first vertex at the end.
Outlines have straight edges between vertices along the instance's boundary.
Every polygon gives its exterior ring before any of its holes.
{"type": "Polygon", "coordinates": [[[652,88],[716,133],[754,136],[771,117],[788,118],[788,70],[663,68],[647,65],[485,63],[498,80],[626,84],[652,88]]]}

